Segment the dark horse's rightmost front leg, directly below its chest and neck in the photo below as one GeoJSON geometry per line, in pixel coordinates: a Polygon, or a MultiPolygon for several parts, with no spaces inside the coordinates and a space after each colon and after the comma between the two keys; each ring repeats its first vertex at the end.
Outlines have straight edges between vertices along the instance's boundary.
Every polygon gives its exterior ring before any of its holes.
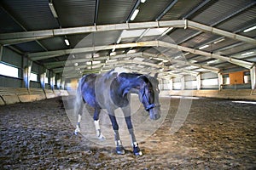
{"type": "Polygon", "coordinates": [[[133,148],[133,154],[136,156],[142,156],[143,152],[140,150],[137,144],[137,140],[134,134],[133,126],[131,123],[131,107],[130,105],[122,108],[125,115],[125,122],[131,136],[131,147],[133,148]]]}

